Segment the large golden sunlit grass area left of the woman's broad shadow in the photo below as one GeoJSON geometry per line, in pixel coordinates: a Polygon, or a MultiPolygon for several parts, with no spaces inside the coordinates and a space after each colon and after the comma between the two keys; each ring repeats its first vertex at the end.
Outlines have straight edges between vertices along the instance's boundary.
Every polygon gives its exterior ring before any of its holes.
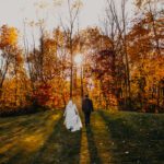
{"type": "Polygon", "coordinates": [[[2,118],[0,120],[3,122],[0,125],[0,163],[31,163],[52,132],[61,114],[61,112],[45,112],[2,118]]]}

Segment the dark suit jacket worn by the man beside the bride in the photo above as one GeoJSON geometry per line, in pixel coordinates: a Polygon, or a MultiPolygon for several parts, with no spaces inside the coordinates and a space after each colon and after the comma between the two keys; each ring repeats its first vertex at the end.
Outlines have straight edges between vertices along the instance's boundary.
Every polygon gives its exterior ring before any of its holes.
{"type": "Polygon", "coordinates": [[[82,102],[82,110],[84,113],[91,113],[93,112],[93,103],[90,98],[84,98],[82,102]]]}

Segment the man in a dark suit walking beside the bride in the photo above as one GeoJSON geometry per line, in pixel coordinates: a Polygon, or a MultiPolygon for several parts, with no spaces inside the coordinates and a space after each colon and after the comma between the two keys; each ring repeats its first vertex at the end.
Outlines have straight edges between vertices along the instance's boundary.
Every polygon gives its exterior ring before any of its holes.
{"type": "Polygon", "coordinates": [[[90,125],[90,116],[93,109],[93,103],[92,99],[89,98],[89,95],[85,95],[83,102],[82,102],[82,110],[85,116],[85,127],[90,125]]]}

